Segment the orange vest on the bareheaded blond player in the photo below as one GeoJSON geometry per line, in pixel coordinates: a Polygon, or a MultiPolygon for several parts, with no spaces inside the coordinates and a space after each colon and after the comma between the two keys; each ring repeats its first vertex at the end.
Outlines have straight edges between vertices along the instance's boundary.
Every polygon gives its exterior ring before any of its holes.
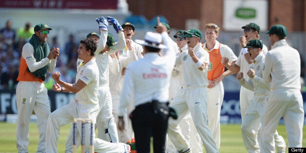
{"type": "Polygon", "coordinates": [[[213,49],[212,51],[208,52],[210,54],[210,64],[208,66],[207,74],[207,78],[209,80],[214,80],[224,72],[224,65],[221,63],[222,56],[220,53],[220,46],[221,43],[219,43],[218,49],[213,49]]]}

